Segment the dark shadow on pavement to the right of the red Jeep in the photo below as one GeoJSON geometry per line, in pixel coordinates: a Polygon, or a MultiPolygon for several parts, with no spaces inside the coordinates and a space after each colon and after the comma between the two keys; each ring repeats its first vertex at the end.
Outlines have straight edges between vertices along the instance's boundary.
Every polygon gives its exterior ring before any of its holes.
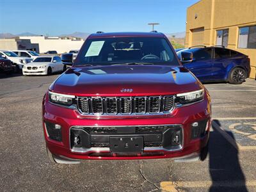
{"type": "MultiPolygon", "coordinates": [[[[218,120],[213,120],[220,125],[218,120]]],[[[209,172],[212,186],[209,191],[247,191],[244,173],[239,164],[238,150],[212,126],[209,140],[209,172]]],[[[234,139],[230,131],[225,131],[234,139]]],[[[235,140],[234,140],[235,141],[235,140]]]]}

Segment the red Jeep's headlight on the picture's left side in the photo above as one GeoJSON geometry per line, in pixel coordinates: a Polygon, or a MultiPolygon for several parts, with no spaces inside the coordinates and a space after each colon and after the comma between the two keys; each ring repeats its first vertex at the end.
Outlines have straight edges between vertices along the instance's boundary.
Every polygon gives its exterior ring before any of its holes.
{"type": "Polygon", "coordinates": [[[75,101],[75,95],[65,95],[60,93],[49,92],[49,100],[56,104],[71,106],[75,101]]]}

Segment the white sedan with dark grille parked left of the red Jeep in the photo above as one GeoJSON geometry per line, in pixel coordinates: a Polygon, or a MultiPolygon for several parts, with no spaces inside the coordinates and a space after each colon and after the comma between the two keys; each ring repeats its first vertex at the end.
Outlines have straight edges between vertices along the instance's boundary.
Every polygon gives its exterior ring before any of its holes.
{"type": "Polygon", "coordinates": [[[23,66],[24,76],[29,75],[51,75],[53,72],[67,70],[59,56],[39,56],[33,62],[23,66]]]}

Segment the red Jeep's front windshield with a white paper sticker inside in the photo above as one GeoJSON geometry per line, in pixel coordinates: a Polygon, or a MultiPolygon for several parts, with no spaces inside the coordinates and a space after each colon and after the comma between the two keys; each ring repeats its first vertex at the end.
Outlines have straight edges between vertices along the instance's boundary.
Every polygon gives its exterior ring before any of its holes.
{"type": "Polygon", "coordinates": [[[151,64],[179,66],[165,38],[118,37],[86,40],[74,65],[151,64]]]}

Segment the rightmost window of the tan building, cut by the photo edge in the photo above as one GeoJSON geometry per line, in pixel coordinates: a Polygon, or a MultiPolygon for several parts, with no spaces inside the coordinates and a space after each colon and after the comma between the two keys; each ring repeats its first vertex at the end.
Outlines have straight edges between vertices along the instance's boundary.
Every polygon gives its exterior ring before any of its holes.
{"type": "Polygon", "coordinates": [[[239,28],[238,48],[256,49],[256,26],[239,28]]]}

